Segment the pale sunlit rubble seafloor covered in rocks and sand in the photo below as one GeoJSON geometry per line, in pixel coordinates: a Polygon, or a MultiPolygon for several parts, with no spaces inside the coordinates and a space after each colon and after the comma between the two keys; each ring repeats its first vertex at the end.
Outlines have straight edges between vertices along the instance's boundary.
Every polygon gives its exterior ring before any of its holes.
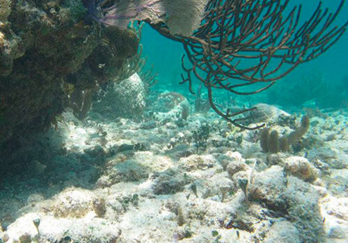
{"type": "MultiPolygon", "coordinates": [[[[137,120],[67,110],[13,154],[30,162],[1,178],[2,242],[348,242],[347,110],[307,110],[299,151],[272,154],[260,131],[171,94],[154,100],[137,120]],[[205,123],[196,153],[192,133],[205,123]]],[[[256,124],[299,126],[300,113],[258,106],[256,124]]]]}

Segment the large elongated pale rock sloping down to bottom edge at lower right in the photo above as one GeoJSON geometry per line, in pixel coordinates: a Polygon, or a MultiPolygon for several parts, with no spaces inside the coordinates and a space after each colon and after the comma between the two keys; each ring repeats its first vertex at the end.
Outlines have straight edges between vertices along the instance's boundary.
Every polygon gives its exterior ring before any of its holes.
{"type": "Polygon", "coordinates": [[[274,165],[255,173],[248,198],[250,201],[261,201],[280,215],[287,215],[287,219],[299,231],[301,242],[319,242],[322,239],[322,215],[317,190],[299,178],[285,177],[282,167],[274,165]]]}

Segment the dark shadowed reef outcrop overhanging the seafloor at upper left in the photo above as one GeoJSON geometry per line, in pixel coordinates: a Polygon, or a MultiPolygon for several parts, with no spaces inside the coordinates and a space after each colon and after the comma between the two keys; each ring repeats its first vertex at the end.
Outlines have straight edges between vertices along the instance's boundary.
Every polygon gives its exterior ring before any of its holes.
{"type": "Polygon", "coordinates": [[[79,92],[93,89],[136,54],[135,33],[85,24],[81,1],[13,1],[10,15],[10,2],[1,3],[8,20],[0,26],[1,143],[49,128],[65,108],[65,83],[79,92]]]}

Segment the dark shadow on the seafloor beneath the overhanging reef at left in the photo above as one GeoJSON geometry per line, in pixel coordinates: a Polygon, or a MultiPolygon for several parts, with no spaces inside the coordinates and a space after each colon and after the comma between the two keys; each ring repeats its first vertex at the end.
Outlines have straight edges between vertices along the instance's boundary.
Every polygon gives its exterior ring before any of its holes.
{"type": "MultiPolygon", "coordinates": [[[[30,138],[17,137],[0,146],[0,219],[6,228],[18,210],[58,194],[67,187],[92,189],[106,153],[68,153],[64,137],[52,128],[30,138]],[[39,200],[39,201],[40,201],[39,200]]],[[[90,152],[90,151],[89,151],[90,152]]]]}

